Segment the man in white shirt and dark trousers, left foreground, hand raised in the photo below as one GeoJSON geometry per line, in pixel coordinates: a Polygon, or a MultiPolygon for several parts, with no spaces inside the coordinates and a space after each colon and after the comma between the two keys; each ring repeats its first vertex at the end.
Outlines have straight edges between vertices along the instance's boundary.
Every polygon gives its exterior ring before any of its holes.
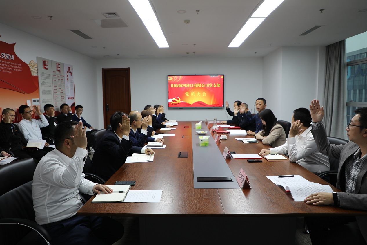
{"type": "Polygon", "coordinates": [[[55,128],[56,149],[44,156],[33,175],[36,222],[52,237],[52,244],[113,244],[124,227],[110,217],[76,216],[85,194],[111,193],[112,189],[84,178],[88,151],[83,123],[62,122],[55,128]]]}

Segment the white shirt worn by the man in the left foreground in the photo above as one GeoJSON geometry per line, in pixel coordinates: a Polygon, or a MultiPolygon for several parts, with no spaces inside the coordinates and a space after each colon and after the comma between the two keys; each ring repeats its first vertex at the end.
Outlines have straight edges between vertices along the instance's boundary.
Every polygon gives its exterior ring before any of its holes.
{"type": "Polygon", "coordinates": [[[68,219],[83,206],[79,191],[93,194],[93,183],[84,178],[86,149],[77,148],[73,158],[58,149],[48,152],[33,175],[33,208],[38,224],[68,219]]]}

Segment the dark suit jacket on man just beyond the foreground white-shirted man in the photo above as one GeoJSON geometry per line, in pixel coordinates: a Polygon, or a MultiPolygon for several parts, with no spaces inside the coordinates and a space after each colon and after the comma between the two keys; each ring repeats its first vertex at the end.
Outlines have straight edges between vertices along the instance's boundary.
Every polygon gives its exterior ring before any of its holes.
{"type": "Polygon", "coordinates": [[[142,147],[132,146],[132,141],[119,140],[112,129],[106,131],[94,149],[92,167],[94,173],[108,180],[132,153],[140,153],[142,147]]]}

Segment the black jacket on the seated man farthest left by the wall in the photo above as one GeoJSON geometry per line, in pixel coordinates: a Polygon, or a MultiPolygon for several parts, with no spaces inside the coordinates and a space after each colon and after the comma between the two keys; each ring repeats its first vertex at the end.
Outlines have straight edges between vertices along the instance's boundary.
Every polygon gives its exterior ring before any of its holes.
{"type": "Polygon", "coordinates": [[[27,145],[27,142],[18,129],[18,126],[13,124],[14,133],[11,129],[11,123],[0,122],[0,147],[6,150],[17,151],[27,145]]]}

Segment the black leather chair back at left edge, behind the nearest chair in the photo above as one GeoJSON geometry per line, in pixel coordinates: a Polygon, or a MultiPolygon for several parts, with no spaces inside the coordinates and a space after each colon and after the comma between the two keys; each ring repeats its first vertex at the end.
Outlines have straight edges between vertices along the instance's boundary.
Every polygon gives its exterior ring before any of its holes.
{"type": "Polygon", "coordinates": [[[36,169],[36,162],[33,158],[0,165],[0,196],[33,180],[34,169],[36,169]]]}

